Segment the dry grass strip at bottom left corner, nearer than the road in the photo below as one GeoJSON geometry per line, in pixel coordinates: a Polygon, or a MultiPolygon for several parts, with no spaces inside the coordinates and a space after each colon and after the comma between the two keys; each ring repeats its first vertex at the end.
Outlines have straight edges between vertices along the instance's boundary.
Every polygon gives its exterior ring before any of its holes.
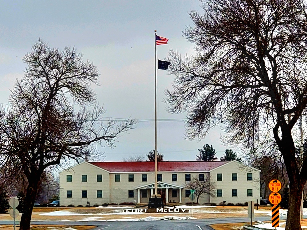
{"type": "MultiPolygon", "coordinates": [[[[31,225],[31,230],[88,230],[96,228],[96,226],[68,226],[68,225],[31,225]]],[[[13,225],[1,225],[0,230],[14,230],[13,225]]],[[[16,225],[16,230],[19,230],[19,225],[16,225]]]]}

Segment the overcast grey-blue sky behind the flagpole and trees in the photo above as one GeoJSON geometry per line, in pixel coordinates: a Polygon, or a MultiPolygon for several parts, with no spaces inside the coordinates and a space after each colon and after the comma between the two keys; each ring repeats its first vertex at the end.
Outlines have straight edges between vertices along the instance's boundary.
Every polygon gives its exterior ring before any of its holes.
{"type": "MultiPolygon", "coordinates": [[[[182,36],[191,10],[202,11],[198,0],[0,1],[0,103],[8,103],[16,78],[25,70],[22,57],[41,38],[50,47],[75,47],[100,73],[94,86],[105,117],[142,119],[123,134],[114,149],[102,148],[105,161],[144,155],[154,149],[154,30],[169,38],[157,46],[157,57],[169,49],[193,54],[193,44],[182,36]]],[[[174,76],[158,70],[158,152],[165,160],[195,160],[197,149],[212,144],[217,157],[225,149],[219,127],[203,140],[185,140],[185,114],[166,111],[164,91],[174,76]],[[176,120],[174,120],[176,119],[176,120]],[[180,121],[178,121],[178,119],[180,121]]],[[[232,148],[236,150],[235,148],[232,148]]]]}

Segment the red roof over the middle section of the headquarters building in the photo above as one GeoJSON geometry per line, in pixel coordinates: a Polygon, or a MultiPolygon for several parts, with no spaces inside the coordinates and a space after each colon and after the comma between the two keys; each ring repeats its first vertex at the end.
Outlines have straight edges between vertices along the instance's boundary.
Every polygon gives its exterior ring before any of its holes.
{"type": "MultiPolygon", "coordinates": [[[[163,161],[158,162],[158,171],[209,171],[229,161],[163,161]]],[[[110,172],[153,172],[154,162],[113,161],[88,162],[110,172]]]]}

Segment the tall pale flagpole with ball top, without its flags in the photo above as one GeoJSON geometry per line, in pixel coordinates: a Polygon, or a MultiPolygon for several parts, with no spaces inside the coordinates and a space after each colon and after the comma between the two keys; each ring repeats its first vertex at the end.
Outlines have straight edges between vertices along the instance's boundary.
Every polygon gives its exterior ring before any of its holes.
{"type": "Polygon", "coordinates": [[[158,194],[158,186],[157,186],[157,176],[158,176],[158,172],[157,172],[157,155],[158,155],[158,151],[157,151],[157,41],[156,41],[156,33],[157,30],[154,30],[154,124],[155,124],[155,156],[154,156],[154,167],[155,167],[155,195],[157,196],[158,194]]]}

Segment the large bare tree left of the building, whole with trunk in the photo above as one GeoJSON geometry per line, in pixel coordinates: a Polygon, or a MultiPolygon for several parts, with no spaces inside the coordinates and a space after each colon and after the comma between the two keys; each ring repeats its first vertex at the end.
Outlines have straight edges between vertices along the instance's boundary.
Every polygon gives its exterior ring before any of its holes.
{"type": "Polygon", "coordinates": [[[28,66],[12,90],[11,106],[0,109],[0,160],[2,170],[27,178],[20,229],[29,230],[43,172],[98,154],[96,145],[112,147],[134,121],[99,122],[104,109],[95,105],[90,87],[99,74],[75,49],[51,49],[38,40],[23,60],[28,66]]]}

